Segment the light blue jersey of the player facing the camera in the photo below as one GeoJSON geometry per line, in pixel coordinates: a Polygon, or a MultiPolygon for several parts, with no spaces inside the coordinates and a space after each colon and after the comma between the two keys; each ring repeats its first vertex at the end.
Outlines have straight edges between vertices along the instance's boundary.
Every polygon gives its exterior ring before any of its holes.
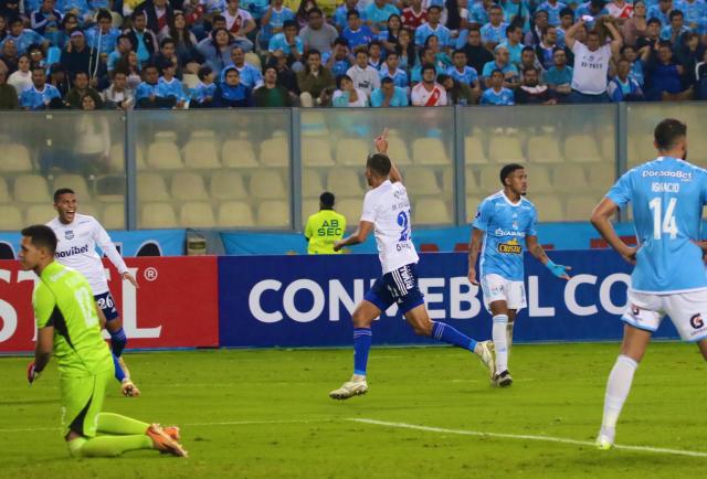
{"type": "Polygon", "coordinates": [[[479,262],[481,276],[500,275],[523,281],[523,252],[526,236],[537,236],[538,213],[525,198],[511,203],[503,191],[492,194],[478,205],[473,226],[486,232],[479,262]]]}

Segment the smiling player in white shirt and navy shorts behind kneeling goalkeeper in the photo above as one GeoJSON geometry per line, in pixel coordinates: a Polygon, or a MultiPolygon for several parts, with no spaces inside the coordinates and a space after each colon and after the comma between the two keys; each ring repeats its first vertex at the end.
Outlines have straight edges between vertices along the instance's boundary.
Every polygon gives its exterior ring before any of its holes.
{"type": "Polygon", "coordinates": [[[130,281],[136,288],[137,281],[130,275],[128,267],[104,227],[101,226],[95,217],[77,213],[77,207],[78,202],[74,190],[62,188],[54,192],[54,209],[59,215],[46,225],[54,231],[59,238],[56,260],[76,269],[88,280],[95,301],[101,308],[105,328],[110,334],[113,354],[118,359],[120,368],[129,381],[130,372],[123,360],[123,350],[127,344],[127,338],[125,331],[123,331],[123,319],[120,319],[120,315],[115,307],[115,300],[110,296],[103,262],[98,253],[96,253],[96,244],[108,256],[123,279],[130,281]]]}

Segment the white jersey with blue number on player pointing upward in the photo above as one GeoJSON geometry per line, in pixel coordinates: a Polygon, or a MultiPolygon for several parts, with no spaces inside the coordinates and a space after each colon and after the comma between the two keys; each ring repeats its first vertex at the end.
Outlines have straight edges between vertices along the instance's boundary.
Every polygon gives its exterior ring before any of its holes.
{"type": "Polygon", "coordinates": [[[366,193],[361,221],[374,225],[376,245],[383,274],[418,263],[412,244],[410,200],[405,187],[387,180],[366,193]]]}

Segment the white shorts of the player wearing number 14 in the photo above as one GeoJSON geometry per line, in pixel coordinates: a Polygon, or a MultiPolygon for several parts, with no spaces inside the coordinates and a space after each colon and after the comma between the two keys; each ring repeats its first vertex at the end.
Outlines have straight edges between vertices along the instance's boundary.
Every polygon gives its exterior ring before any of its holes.
{"type": "Polygon", "coordinates": [[[651,295],[629,289],[626,312],[621,319],[634,328],[656,331],[669,316],[683,341],[707,339],[707,289],[651,295]]]}

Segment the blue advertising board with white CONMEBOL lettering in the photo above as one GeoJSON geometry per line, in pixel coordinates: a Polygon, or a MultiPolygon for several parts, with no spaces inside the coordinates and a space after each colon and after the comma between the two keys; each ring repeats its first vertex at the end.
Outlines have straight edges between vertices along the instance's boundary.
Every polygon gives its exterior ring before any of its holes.
{"type": "MultiPolygon", "coordinates": [[[[528,308],[514,341],[618,340],[631,266],[611,251],[551,252],[572,266],[569,281],[526,255],[528,308]]],[[[490,337],[490,317],[478,287],[466,279],[466,255],[423,254],[420,286],[432,319],[478,340],[490,337]]],[[[351,344],[350,315],[380,276],[376,255],[241,256],[219,258],[220,344],[328,347],[351,344]]],[[[659,338],[676,338],[664,321],[659,338]]],[[[431,343],[415,337],[393,306],[373,324],[374,344],[431,343]]]]}

